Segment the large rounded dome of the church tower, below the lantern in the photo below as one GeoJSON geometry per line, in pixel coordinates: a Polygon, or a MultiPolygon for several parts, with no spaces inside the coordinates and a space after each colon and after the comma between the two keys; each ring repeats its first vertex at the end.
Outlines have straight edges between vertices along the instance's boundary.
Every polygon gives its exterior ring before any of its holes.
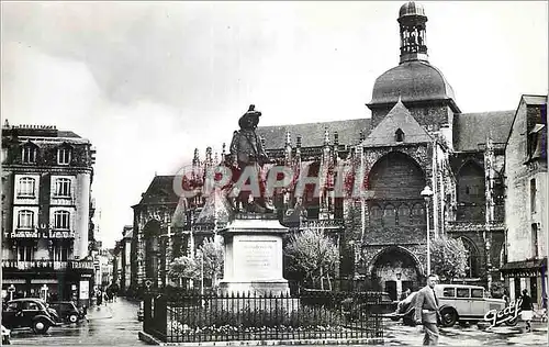
{"type": "Polygon", "coordinates": [[[378,77],[370,104],[394,104],[399,97],[403,102],[455,98],[442,74],[433,65],[419,60],[402,63],[378,77]]]}

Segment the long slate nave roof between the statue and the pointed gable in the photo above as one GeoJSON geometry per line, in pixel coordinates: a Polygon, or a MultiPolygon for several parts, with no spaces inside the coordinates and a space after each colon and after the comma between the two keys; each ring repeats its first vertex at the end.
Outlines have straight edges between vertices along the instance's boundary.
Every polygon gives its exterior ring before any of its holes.
{"type": "Polygon", "coordinates": [[[334,132],[337,132],[339,145],[356,145],[360,142],[360,131],[365,132],[365,136],[370,132],[370,119],[259,126],[256,132],[265,137],[267,149],[284,148],[288,131],[290,131],[292,147],[295,147],[298,135],[301,135],[302,147],[318,147],[324,145],[326,127],[329,132],[330,144],[334,143],[334,132]]]}

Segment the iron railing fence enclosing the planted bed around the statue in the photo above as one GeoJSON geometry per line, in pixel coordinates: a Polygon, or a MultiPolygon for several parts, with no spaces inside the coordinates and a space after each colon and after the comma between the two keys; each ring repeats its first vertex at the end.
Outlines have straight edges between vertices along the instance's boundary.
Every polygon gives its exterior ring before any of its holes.
{"type": "Polygon", "coordinates": [[[165,343],[369,339],[382,343],[380,293],[148,294],[144,331],[165,343]]]}

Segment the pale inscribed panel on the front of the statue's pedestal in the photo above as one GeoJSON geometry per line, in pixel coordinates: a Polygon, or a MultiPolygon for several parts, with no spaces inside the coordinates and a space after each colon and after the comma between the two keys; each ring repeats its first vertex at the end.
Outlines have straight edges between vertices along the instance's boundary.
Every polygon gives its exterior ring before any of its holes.
{"type": "Polygon", "coordinates": [[[240,273],[246,278],[267,279],[277,272],[276,240],[240,240],[240,273]]]}

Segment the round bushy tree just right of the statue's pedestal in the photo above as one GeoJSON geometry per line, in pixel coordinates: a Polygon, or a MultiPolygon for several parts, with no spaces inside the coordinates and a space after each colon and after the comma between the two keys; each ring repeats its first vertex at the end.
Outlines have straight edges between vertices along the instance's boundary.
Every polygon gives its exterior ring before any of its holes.
{"type": "Polygon", "coordinates": [[[324,289],[324,278],[332,290],[330,276],[335,276],[339,253],[336,245],[318,230],[305,230],[294,234],[285,246],[288,270],[298,272],[313,284],[320,280],[324,289]]]}

